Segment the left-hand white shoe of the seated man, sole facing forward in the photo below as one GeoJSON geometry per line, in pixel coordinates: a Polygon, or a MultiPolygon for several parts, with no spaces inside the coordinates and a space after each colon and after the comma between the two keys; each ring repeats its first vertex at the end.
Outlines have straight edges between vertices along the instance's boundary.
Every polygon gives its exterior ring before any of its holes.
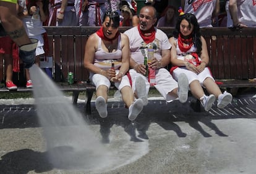
{"type": "Polygon", "coordinates": [[[137,97],[141,98],[143,105],[148,105],[148,94],[146,90],[146,83],[143,77],[137,77],[135,80],[135,90],[137,92],[137,97]]]}

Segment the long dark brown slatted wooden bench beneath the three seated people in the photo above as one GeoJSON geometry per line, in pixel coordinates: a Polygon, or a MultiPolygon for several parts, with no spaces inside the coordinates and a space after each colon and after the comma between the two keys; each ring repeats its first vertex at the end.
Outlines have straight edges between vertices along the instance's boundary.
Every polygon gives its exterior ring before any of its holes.
{"type": "MultiPolygon", "coordinates": [[[[49,40],[49,56],[53,57],[53,79],[57,83],[66,82],[67,73],[73,72],[75,82],[83,82],[70,87],[59,86],[61,90],[75,92],[74,99],[79,92],[85,91],[85,113],[91,114],[91,100],[95,87],[88,81],[88,70],[83,67],[85,44],[90,34],[95,33],[98,27],[45,27],[49,40]],[[78,92],[78,93],[77,93],[78,92]]],[[[126,31],[121,27],[120,31],[126,31]]],[[[160,28],[171,36],[174,28],[160,28]]],[[[256,77],[256,28],[242,28],[231,30],[229,28],[202,28],[202,36],[207,41],[210,56],[209,66],[221,89],[231,90],[236,95],[241,87],[255,87],[249,79],[256,77]]],[[[169,67],[168,67],[169,69],[169,67]]],[[[4,79],[6,67],[0,60],[0,79],[4,79]]],[[[23,72],[17,74],[18,79],[24,79],[23,72]]],[[[114,89],[114,88],[113,88],[114,89]]],[[[25,90],[25,89],[23,89],[25,90]]],[[[111,88],[112,90],[112,88],[111,88]]],[[[6,92],[0,89],[0,92],[6,92]]],[[[19,89],[17,90],[19,92],[19,89]]],[[[75,101],[75,100],[74,100],[75,101]]],[[[74,102],[76,103],[76,101],[74,102]]]]}

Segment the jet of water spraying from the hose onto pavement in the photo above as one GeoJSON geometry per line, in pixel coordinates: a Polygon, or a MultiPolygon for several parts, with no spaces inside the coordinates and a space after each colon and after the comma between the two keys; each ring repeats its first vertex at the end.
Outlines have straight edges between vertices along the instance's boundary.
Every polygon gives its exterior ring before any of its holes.
{"type": "Polygon", "coordinates": [[[105,168],[111,154],[69,98],[38,66],[30,68],[36,113],[46,139],[49,160],[56,168],[105,168]]]}

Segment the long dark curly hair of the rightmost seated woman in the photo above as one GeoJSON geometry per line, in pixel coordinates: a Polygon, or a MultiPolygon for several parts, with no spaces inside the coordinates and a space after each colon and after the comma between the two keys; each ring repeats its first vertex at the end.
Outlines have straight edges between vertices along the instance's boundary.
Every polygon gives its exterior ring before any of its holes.
{"type": "Polygon", "coordinates": [[[191,27],[191,24],[194,25],[194,29],[192,31],[192,38],[193,38],[193,43],[197,48],[197,53],[198,55],[200,55],[202,51],[201,33],[200,33],[200,27],[197,22],[197,17],[195,17],[194,14],[184,14],[179,16],[179,18],[177,19],[175,30],[173,31],[173,36],[174,38],[178,38],[180,33],[181,21],[184,19],[187,20],[187,22],[189,22],[189,28],[191,27]]]}

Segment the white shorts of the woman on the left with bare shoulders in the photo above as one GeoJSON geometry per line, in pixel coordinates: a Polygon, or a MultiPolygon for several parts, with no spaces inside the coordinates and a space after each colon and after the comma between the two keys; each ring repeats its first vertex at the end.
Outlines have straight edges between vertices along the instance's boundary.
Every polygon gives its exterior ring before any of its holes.
{"type": "MultiPolygon", "coordinates": [[[[116,70],[116,74],[118,74],[118,70],[116,70]]],[[[90,73],[90,80],[93,82],[93,85],[95,85],[96,90],[98,89],[98,87],[100,85],[105,85],[106,87],[110,87],[111,83],[109,81],[109,79],[101,74],[93,74],[90,73]]],[[[121,90],[123,87],[125,86],[129,86],[130,87],[130,82],[127,76],[122,77],[121,82],[116,82],[114,83],[115,87],[118,90],[121,90]]]]}

